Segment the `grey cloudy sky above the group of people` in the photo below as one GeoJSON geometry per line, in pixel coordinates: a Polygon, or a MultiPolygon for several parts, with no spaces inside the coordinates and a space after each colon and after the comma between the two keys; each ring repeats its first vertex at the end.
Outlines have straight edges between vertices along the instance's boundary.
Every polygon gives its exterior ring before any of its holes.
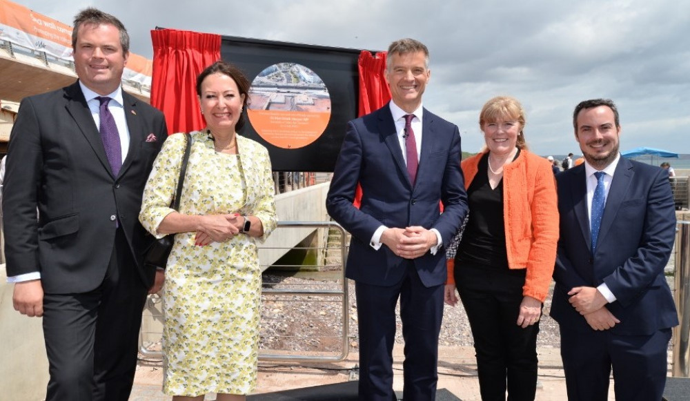
{"type": "Polygon", "coordinates": [[[152,57],[156,26],[343,48],[385,50],[401,37],[431,52],[424,106],[483,144],[477,117],[517,97],[540,155],[580,153],[573,108],[613,99],[621,150],[690,153],[690,1],[678,0],[14,0],[71,25],[94,6],[121,19],[132,51],[152,57]]]}

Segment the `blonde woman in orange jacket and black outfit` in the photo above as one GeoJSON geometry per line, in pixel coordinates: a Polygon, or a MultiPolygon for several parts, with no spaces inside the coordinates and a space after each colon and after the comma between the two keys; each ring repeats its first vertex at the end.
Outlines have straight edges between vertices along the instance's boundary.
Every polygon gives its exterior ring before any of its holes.
{"type": "Polygon", "coordinates": [[[506,400],[506,390],[509,400],[534,400],[539,318],[558,242],[555,179],[549,161],[527,150],[517,100],[487,101],[479,123],[486,150],[462,162],[470,213],[457,252],[449,247],[445,300],[457,303],[457,285],[482,400],[506,400]]]}

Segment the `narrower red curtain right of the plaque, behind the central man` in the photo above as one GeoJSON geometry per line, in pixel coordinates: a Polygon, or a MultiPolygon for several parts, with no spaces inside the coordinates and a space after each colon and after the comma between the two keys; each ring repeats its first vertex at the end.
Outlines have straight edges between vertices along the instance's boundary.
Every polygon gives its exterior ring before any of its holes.
{"type": "MultiPolygon", "coordinates": [[[[359,53],[359,117],[382,108],[391,100],[391,88],[386,82],[386,52],[372,55],[368,50],[359,53]]],[[[357,185],[355,207],[362,202],[362,187],[357,185]]]]}

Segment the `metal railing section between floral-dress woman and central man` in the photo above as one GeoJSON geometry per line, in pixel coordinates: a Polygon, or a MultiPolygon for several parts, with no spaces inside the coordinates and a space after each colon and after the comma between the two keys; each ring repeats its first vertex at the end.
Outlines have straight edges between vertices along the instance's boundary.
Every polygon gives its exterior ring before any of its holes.
{"type": "MultiPolygon", "coordinates": [[[[335,222],[279,222],[277,229],[295,229],[304,239],[271,266],[277,273],[264,275],[259,360],[344,360],[349,351],[346,231],[335,222]],[[313,229],[306,237],[305,228],[313,229]]],[[[139,352],[161,357],[161,335],[161,299],[150,295],[139,352]]]]}

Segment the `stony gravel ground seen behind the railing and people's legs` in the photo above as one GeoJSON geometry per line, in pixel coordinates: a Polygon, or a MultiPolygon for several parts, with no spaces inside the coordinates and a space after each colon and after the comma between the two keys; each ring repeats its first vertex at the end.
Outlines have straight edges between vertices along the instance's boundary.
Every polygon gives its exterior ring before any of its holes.
{"type": "MultiPolygon", "coordinates": [[[[317,276],[317,275],[314,275],[317,276]]],[[[264,288],[275,289],[337,289],[339,282],[318,278],[281,277],[264,273],[264,288]]],[[[553,291],[553,286],[551,288],[553,291]]],[[[342,304],[340,297],[320,295],[265,295],[262,312],[261,346],[264,350],[342,351],[342,304]]],[[[540,320],[538,346],[558,347],[558,324],[548,315],[551,294],[544,305],[540,320]]],[[[354,284],[348,285],[348,343],[357,349],[357,306],[354,284]]],[[[402,343],[402,323],[397,312],[396,342],[402,343]]],[[[446,305],[439,344],[471,346],[472,334],[464,308],[446,305]]]]}

